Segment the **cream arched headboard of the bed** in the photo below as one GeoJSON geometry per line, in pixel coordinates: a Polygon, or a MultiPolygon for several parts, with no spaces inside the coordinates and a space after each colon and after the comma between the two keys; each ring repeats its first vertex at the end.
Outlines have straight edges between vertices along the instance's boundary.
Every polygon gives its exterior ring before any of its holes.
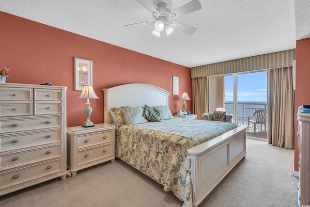
{"type": "Polygon", "coordinates": [[[130,83],[102,89],[104,92],[104,122],[112,123],[110,109],[118,106],[168,106],[170,92],[154,85],[130,83]]]}

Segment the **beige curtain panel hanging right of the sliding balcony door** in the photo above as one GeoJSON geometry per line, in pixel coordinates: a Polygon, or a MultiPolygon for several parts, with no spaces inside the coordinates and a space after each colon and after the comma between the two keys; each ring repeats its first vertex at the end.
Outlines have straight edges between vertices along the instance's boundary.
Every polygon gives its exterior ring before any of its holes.
{"type": "Polygon", "coordinates": [[[267,70],[268,144],[294,148],[294,93],[290,67],[267,70]]]}

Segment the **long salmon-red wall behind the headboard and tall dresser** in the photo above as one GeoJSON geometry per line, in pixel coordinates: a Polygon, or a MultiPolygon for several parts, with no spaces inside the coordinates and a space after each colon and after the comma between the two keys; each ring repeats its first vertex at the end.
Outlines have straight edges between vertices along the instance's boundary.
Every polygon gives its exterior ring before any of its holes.
{"type": "MultiPolygon", "coordinates": [[[[67,127],[81,125],[86,100],[74,91],[74,57],[93,60],[93,88],[99,99],[91,99],[91,120],[104,121],[103,91],[126,83],[152,84],[171,92],[172,76],[179,77],[180,95],[170,96],[170,109],[183,109],[182,92],[192,97],[188,67],[173,64],[128,49],[0,12],[0,67],[10,68],[7,82],[67,86],[67,127]]],[[[156,43],[154,43],[156,44],[156,43]]],[[[186,101],[187,111],[192,102],[186,101]]]]}

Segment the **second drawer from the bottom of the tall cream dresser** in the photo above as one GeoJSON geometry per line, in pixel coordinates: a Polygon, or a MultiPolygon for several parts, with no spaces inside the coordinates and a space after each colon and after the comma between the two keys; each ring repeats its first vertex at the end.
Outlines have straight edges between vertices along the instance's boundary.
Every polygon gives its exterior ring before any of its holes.
{"type": "Polygon", "coordinates": [[[0,168],[22,165],[33,161],[61,157],[61,145],[31,151],[1,155],[0,168]]]}

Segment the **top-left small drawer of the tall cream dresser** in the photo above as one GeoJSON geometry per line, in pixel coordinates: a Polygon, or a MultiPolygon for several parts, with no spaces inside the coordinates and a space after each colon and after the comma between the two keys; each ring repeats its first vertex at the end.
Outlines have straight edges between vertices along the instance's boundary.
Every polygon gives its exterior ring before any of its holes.
{"type": "Polygon", "coordinates": [[[31,101],[32,89],[29,88],[0,88],[0,101],[31,101]]]}

